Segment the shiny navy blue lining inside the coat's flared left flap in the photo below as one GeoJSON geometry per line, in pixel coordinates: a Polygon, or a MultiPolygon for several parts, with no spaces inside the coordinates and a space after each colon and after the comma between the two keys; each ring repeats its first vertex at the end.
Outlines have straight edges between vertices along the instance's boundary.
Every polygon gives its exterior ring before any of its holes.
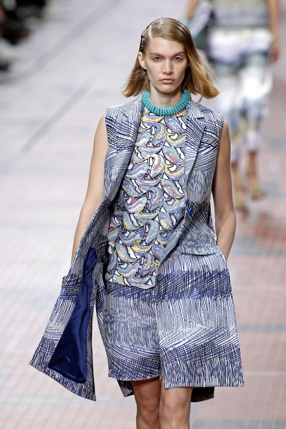
{"type": "Polygon", "coordinates": [[[93,288],[92,272],[96,262],[96,251],[90,248],[84,257],[75,307],[48,363],[48,368],[77,383],[85,383],[87,379],[87,328],[93,288]]]}

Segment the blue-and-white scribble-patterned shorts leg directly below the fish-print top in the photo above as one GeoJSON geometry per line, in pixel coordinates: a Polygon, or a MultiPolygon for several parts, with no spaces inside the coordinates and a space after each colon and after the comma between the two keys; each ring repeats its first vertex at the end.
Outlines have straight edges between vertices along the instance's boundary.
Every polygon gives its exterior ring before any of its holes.
{"type": "Polygon", "coordinates": [[[155,287],[140,289],[110,281],[104,307],[108,376],[145,380],[163,376],[155,287]]]}

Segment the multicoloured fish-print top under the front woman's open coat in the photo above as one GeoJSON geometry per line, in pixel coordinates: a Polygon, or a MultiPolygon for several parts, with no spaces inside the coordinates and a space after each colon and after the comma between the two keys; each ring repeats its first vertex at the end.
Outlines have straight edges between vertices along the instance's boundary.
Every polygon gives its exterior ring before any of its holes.
{"type": "Polygon", "coordinates": [[[106,281],[142,289],[155,284],[163,250],[184,218],[186,121],[186,110],[160,116],[144,106],[111,208],[106,281]]]}

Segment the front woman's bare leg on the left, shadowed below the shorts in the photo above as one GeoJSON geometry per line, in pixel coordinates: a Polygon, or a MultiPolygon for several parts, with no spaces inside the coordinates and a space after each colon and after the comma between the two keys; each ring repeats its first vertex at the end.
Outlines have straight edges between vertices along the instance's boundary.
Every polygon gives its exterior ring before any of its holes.
{"type": "Polygon", "coordinates": [[[136,429],[160,429],[161,383],[159,377],[131,381],[131,383],[137,404],[136,429]]]}

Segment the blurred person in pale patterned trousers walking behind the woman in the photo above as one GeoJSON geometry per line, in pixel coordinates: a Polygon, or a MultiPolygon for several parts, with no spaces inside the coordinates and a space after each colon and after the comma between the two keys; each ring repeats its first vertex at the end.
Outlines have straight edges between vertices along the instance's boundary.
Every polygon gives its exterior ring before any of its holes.
{"type": "Polygon", "coordinates": [[[243,211],[247,202],[239,168],[242,144],[248,154],[250,197],[265,195],[257,154],[272,88],[271,63],[279,57],[278,9],[278,0],[190,0],[181,19],[197,47],[205,51],[223,90],[214,100],[215,109],[229,125],[234,203],[243,211]]]}

